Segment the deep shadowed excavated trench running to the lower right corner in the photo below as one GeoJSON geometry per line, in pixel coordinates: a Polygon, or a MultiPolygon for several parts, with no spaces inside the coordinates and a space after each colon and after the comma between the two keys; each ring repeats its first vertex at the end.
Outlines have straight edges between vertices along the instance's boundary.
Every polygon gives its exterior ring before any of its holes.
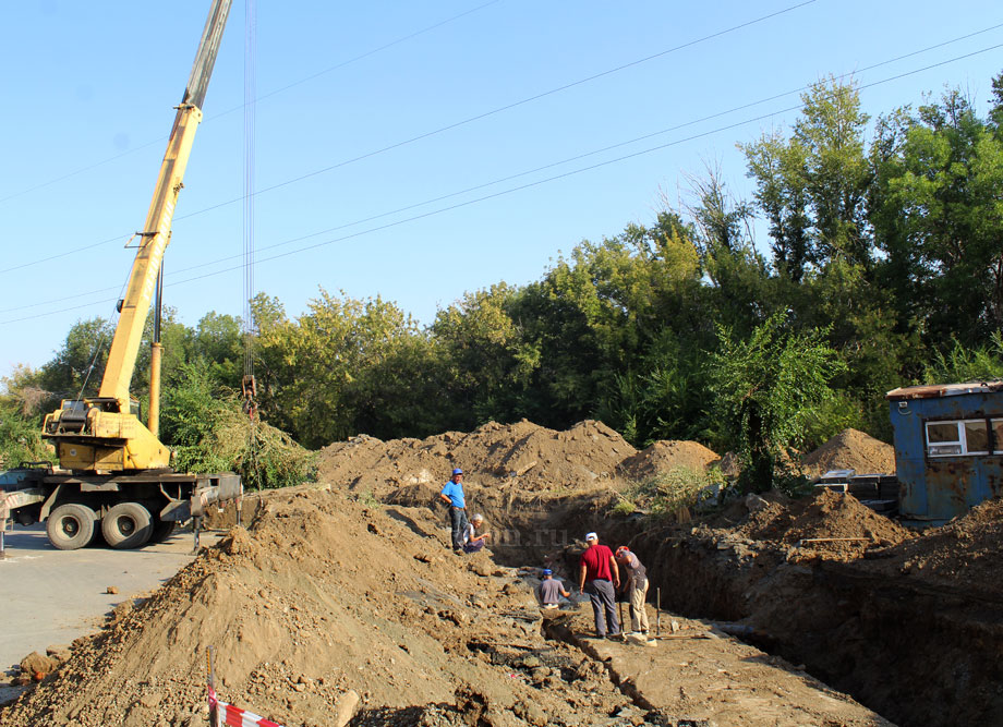
{"type": "Polygon", "coordinates": [[[629,543],[649,567],[651,603],[657,589],[665,610],[734,623],[744,641],[805,665],[899,725],[1000,724],[1003,603],[991,593],[890,579],[868,561],[788,562],[776,548],[715,543],[689,530],[644,532],[602,518],[594,504],[561,508],[558,518],[545,508],[488,517],[519,533],[495,549],[508,566],[546,559],[575,572],[573,545],[536,533],[595,529],[608,544],[629,543]]]}

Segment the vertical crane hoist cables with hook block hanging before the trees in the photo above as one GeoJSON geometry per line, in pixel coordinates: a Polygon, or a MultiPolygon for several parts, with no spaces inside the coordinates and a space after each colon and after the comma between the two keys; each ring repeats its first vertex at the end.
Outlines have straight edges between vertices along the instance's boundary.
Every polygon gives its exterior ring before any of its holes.
{"type": "MultiPolygon", "coordinates": [[[[251,299],[254,296],[254,122],[255,122],[255,51],[256,19],[254,0],[244,3],[244,284],[241,327],[244,339],[244,376],[241,379],[243,411],[250,420],[247,427],[249,474],[257,471],[257,381],[254,378],[254,325],[251,299]]],[[[256,480],[256,477],[255,477],[256,480]]],[[[255,483],[259,484],[259,483],[255,483]]]]}

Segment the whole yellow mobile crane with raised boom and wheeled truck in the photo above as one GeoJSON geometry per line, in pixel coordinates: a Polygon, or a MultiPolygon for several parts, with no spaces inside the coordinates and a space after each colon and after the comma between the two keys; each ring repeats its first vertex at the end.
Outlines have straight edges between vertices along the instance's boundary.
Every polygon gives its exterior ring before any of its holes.
{"type": "Polygon", "coordinates": [[[28,463],[0,473],[0,550],[2,531],[12,517],[23,524],[46,521],[49,541],[60,549],[87,545],[98,524],[109,545],[130,548],[164,538],[177,522],[201,517],[210,502],[242,493],[235,474],[196,475],[170,469],[171,452],[157,438],[157,336],[150,356],[148,427],[140,421],[138,405],[129,393],[150,302],[155,291],[159,292],[160,263],[170,242],[171,219],[230,1],[213,0],[209,9],[146,223],[137,233],[138,251],[125,298],[119,303],[120,317],[98,396],[64,400],[45,417],[43,436],[53,443],[59,469],[28,463]]]}

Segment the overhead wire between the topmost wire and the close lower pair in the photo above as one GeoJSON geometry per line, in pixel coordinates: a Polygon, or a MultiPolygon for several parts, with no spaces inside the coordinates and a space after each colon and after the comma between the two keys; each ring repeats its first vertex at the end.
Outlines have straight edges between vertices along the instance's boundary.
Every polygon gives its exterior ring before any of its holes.
{"type": "MultiPolygon", "coordinates": [[[[630,62],[628,62],[628,63],[624,63],[624,64],[621,64],[621,65],[617,65],[617,66],[615,66],[615,68],[607,69],[607,70],[605,70],[605,71],[601,71],[600,73],[595,73],[595,74],[593,74],[593,75],[590,75],[590,76],[587,76],[587,77],[583,77],[583,78],[579,78],[579,80],[572,81],[572,82],[570,82],[570,83],[566,83],[566,84],[564,84],[564,85],[561,85],[561,86],[557,86],[557,87],[551,88],[551,89],[548,89],[548,90],[544,90],[544,92],[542,92],[542,93],[540,93],[540,94],[535,94],[535,95],[533,95],[533,96],[528,96],[528,97],[522,98],[522,99],[520,99],[520,100],[518,100],[518,101],[513,101],[513,102],[507,104],[507,105],[505,105],[505,106],[496,107],[496,108],[491,109],[491,110],[488,110],[488,111],[484,111],[483,113],[478,113],[478,114],[472,116],[472,117],[469,117],[469,118],[467,118],[467,119],[462,119],[462,120],[460,120],[460,121],[456,121],[456,122],[454,122],[454,123],[449,123],[449,124],[447,124],[447,125],[445,125],[445,126],[439,126],[438,129],[434,129],[434,130],[432,130],[432,131],[424,132],[424,133],[418,134],[418,135],[415,135],[415,136],[411,136],[410,138],[407,138],[407,140],[400,141],[400,142],[396,142],[396,143],[390,144],[390,145],[388,145],[388,146],[384,146],[384,147],[382,147],[382,148],[374,149],[374,150],[372,150],[372,152],[367,152],[366,154],[362,154],[362,155],[359,155],[359,156],[357,156],[357,157],[352,157],[352,158],[350,158],[350,159],[345,159],[345,160],[342,160],[342,161],[339,161],[339,162],[334,163],[334,165],[329,165],[329,166],[324,167],[324,168],[322,168],[322,169],[316,169],[316,170],[311,171],[311,172],[307,172],[307,173],[305,173],[305,174],[301,174],[300,177],[295,177],[295,178],[288,179],[288,180],[285,180],[285,181],[282,181],[282,182],[279,182],[279,183],[277,183],[277,184],[273,184],[271,186],[263,187],[263,189],[261,189],[261,190],[257,190],[256,194],[265,194],[265,193],[268,193],[268,192],[273,192],[273,191],[278,190],[278,189],[281,189],[281,187],[283,187],[283,186],[288,186],[288,185],[290,185],[290,184],[294,184],[295,182],[301,182],[301,181],[306,180],[306,179],[310,179],[310,178],[312,178],[312,177],[316,177],[316,175],[318,175],[318,174],[323,174],[323,173],[333,171],[333,170],[335,170],[335,169],[340,169],[340,168],[342,168],[342,167],[347,167],[347,166],[349,166],[349,165],[355,163],[355,162],[358,162],[358,161],[362,161],[362,160],[364,160],[364,159],[370,159],[370,158],[375,157],[375,156],[377,156],[377,155],[379,155],[379,154],[385,154],[385,153],[387,153],[387,152],[391,152],[391,150],[394,150],[394,149],[398,149],[398,148],[400,148],[400,147],[402,147],[402,146],[407,146],[407,145],[409,145],[409,144],[414,144],[415,142],[420,142],[420,141],[422,141],[422,140],[430,138],[430,137],[432,137],[432,136],[436,136],[436,135],[438,135],[438,134],[443,134],[443,133],[445,133],[445,132],[447,132],[447,131],[451,131],[451,130],[454,130],[454,129],[458,129],[458,128],[460,128],[460,126],[464,126],[464,125],[467,125],[467,124],[473,123],[474,121],[480,121],[480,120],[482,120],[482,119],[486,119],[486,118],[493,117],[493,116],[498,114],[498,113],[502,113],[502,112],[504,112],[504,111],[509,111],[509,110],[511,110],[511,109],[518,108],[518,107],[520,107],[520,106],[524,106],[524,105],[530,104],[530,102],[532,102],[532,101],[536,101],[536,100],[540,100],[540,99],[542,99],[542,98],[546,98],[546,97],[548,97],[548,96],[553,96],[554,94],[558,94],[558,93],[560,93],[560,92],[568,90],[569,88],[575,88],[575,87],[577,87],[577,86],[581,86],[581,85],[587,84],[587,83],[590,83],[590,82],[592,82],[592,81],[596,81],[596,80],[599,80],[599,78],[602,78],[602,77],[612,75],[612,74],[614,74],[614,73],[618,73],[618,72],[620,72],[620,71],[625,71],[625,70],[627,70],[627,69],[630,69],[630,68],[640,65],[640,64],[642,64],[642,63],[646,63],[648,61],[652,61],[652,60],[655,60],[655,59],[657,59],[657,58],[663,58],[664,56],[668,56],[669,53],[674,53],[674,52],[677,52],[677,51],[679,51],[679,50],[684,50],[684,49],[686,49],[686,48],[691,48],[692,46],[699,45],[699,44],[701,44],[701,43],[705,43],[705,41],[708,41],[708,40],[712,40],[712,39],[714,39],[714,38],[720,38],[721,36],[727,35],[727,34],[729,34],[729,33],[734,33],[734,32],[736,32],[736,31],[740,31],[740,29],[742,29],[742,28],[749,27],[749,26],[751,26],[751,25],[756,25],[756,24],[758,24],[758,23],[762,23],[762,22],[764,22],[764,21],[768,21],[768,20],[770,20],[770,19],[776,17],[776,16],[778,16],[778,15],[783,15],[783,14],[785,14],[785,13],[793,12],[793,11],[795,11],[795,10],[798,10],[798,9],[800,9],[800,8],[803,8],[805,5],[810,5],[810,4],[815,3],[815,2],[818,2],[818,1],[819,1],[819,0],[805,0],[803,2],[799,2],[799,3],[797,3],[797,4],[789,5],[789,7],[787,7],[787,8],[782,9],[782,10],[777,10],[777,11],[772,12],[772,13],[769,13],[769,14],[766,14],[766,15],[761,15],[760,17],[753,19],[753,20],[751,20],[751,21],[746,21],[745,23],[739,23],[738,25],[733,25],[733,26],[730,26],[730,27],[724,28],[724,29],[722,29],[722,31],[717,31],[717,32],[715,32],[715,33],[711,33],[711,34],[709,34],[709,35],[702,36],[702,37],[697,38],[697,39],[694,39],[694,40],[688,40],[687,43],[680,44],[680,45],[678,45],[678,46],[674,46],[674,47],[672,47],[672,48],[667,48],[667,49],[665,49],[665,50],[658,51],[658,52],[656,52],[656,53],[652,53],[652,54],[650,54],[650,56],[645,56],[644,58],[639,58],[639,59],[633,60],[633,61],[630,61],[630,62]]],[[[491,4],[491,3],[487,3],[487,4],[491,4]]],[[[482,7],[486,7],[486,5],[482,5],[482,7]]],[[[472,12],[472,11],[471,11],[471,12],[472,12]]],[[[392,44],[391,44],[391,45],[392,45],[392,44]]],[[[376,51],[374,50],[374,51],[372,51],[372,52],[376,52],[376,51]]],[[[232,199],[227,199],[227,201],[225,201],[225,202],[220,202],[220,203],[218,203],[218,204],[210,205],[210,206],[208,206],[208,207],[204,207],[204,208],[198,209],[198,210],[196,210],[196,211],[189,213],[188,215],[176,216],[176,217],[174,217],[174,221],[189,219],[189,218],[191,218],[191,217],[195,217],[196,215],[203,215],[203,214],[208,213],[208,211],[212,211],[212,210],[214,210],[214,209],[219,209],[220,207],[226,207],[226,206],[232,205],[232,204],[234,204],[234,203],[237,203],[237,202],[241,202],[242,199],[243,199],[242,196],[241,196],[241,197],[234,197],[234,198],[232,198],[232,199]]],[[[3,202],[3,199],[0,199],[0,202],[3,202]]],[[[118,241],[118,240],[121,240],[123,237],[125,237],[125,235],[124,235],[124,234],[122,234],[122,235],[117,235],[117,237],[114,237],[114,238],[109,238],[109,239],[107,239],[107,240],[102,240],[102,241],[100,241],[100,242],[95,242],[95,243],[92,243],[92,244],[88,244],[88,245],[84,245],[84,246],[82,246],[82,247],[75,247],[75,249],[73,249],[73,250],[68,250],[68,251],[62,252],[62,253],[57,253],[57,254],[55,254],[55,255],[49,255],[49,256],[47,256],[47,257],[45,257],[45,258],[40,258],[40,259],[36,259],[36,260],[31,260],[31,262],[28,262],[28,263],[21,263],[21,264],[17,264],[17,265],[14,265],[14,266],[11,266],[11,267],[7,267],[7,268],[0,268],[0,275],[3,275],[3,274],[5,274],[5,272],[12,272],[12,271],[14,271],[14,270],[21,270],[21,269],[23,269],[23,268],[31,267],[31,266],[33,266],[33,265],[40,265],[41,263],[48,263],[48,262],[53,260],[53,259],[59,259],[59,258],[61,258],[61,257],[67,257],[68,255],[73,255],[73,254],[75,254],[75,253],[85,252],[85,251],[87,251],[87,250],[93,250],[94,247],[98,247],[98,246],[100,246],[100,245],[106,245],[106,244],[108,244],[108,243],[111,243],[111,242],[116,242],[116,241],[118,241]]]]}

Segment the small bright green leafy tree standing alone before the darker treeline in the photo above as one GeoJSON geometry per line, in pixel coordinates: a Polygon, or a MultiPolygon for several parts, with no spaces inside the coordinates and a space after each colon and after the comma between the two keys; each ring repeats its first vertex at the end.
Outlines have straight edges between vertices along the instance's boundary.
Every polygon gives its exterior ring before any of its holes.
{"type": "Polygon", "coordinates": [[[718,329],[721,348],[709,363],[710,390],[738,444],[745,492],[773,487],[778,464],[803,443],[819,407],[831,399],[829,384],[845,364],[824,342],[824,331],[796,332],[778,313],[736,340],[718,329]]]}

